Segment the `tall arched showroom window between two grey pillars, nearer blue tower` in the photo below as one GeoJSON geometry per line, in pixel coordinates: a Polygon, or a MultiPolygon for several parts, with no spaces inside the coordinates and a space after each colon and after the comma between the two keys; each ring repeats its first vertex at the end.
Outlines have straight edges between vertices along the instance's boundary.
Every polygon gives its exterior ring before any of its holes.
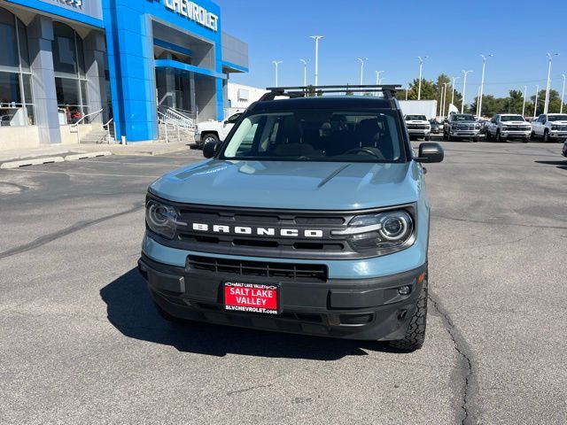
{"type": "MultiPolygon", "coordinates": [[[[53,22],[53,68],[59,124],[74,124],[89,114],[82,38],[60,22],[53,22]]],[[[82,120],[87,124],[89,119],[82,120]]]]}

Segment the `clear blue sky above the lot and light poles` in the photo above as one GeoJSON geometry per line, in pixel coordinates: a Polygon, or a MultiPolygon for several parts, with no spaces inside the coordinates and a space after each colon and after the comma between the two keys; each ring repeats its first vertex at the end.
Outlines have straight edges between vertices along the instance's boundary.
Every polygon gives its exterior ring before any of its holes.
{"type": "Polygon", "coordinates": [[[485,94],[505,96],[509,89],[530,95],[535,85],[545,89],[546,52],[558,52],[552,68],[552,88],[561,93],[567,73],[567,0],[216,0],[224,31],[248,42],[250,73],[231,80],[257,87],[273,86],[272,60],[280,65],[280,85],[303,83],[303,64],[309,58],[308,83],[314,79],[315,42],[320,43],[319,83],[376,82],[404,86],[418,76],[417,56],[429,56],[423,77],[439,73],[467,79],[467,102],[476,96],[482,71],[480,54],[493,53],[486,64],[485,94]]]}

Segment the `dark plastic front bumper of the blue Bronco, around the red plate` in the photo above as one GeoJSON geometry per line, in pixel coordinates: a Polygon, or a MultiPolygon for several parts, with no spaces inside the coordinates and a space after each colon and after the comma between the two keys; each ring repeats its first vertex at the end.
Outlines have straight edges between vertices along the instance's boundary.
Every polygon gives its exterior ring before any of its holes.
{"type": "Polygon", "coordinates": [[[138,269],[154,301],[174,317],[314,336],[395,340],[405,336],[423,288],[427,265],[400,274],[368,279],[292,279],[237,276],[246,283],[280,285],[280,314],[226,312],[222,283],[235,274],[175,267],[142,255],[138,269]],[[407,296],[400,286],[410,286],[407,296]]]}

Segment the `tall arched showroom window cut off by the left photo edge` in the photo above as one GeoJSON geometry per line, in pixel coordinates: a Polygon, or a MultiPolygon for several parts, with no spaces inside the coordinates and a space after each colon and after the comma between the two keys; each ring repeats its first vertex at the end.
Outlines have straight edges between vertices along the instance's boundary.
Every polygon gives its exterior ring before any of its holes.
{"type": "Polygon", "coordinates": [[[24,24],[0,8],[0,126],[34,124],[31,69],[24,24]]]}

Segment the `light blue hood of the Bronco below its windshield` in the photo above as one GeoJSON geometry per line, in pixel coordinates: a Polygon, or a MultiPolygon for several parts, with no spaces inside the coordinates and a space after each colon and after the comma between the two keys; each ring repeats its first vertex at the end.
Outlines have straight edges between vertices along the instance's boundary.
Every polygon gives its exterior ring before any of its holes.
{"type": "Polygon", "coordinates": [[[176,202],[299,210],[357,210],[416,202],[415,161],[371,164],[209,159],[159,178],[152,193],[176,202]]]}

